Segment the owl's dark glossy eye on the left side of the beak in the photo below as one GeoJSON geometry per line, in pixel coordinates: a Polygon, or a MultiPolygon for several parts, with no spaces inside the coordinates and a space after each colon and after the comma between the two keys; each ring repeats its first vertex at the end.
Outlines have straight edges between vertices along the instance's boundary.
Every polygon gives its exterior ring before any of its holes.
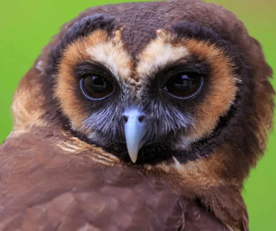
{"type": "Polygon", "coordinates": [[[87,75],[80,80],[83,94],[90,99],[100,100],[113,92],[112,82],[100,75],[87,75]]]}

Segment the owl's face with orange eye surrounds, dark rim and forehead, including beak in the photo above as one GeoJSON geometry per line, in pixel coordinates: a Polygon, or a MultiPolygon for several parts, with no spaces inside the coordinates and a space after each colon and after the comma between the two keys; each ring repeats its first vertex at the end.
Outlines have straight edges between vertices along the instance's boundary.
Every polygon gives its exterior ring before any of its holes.
{"type": "Polygon", "coordinates": [[[52,47],[45,84],[65,127],[136,164],[208,157],[253,134],[243,107],[255,85],[231,35],[138,8],[86,15],[52,47]]]}

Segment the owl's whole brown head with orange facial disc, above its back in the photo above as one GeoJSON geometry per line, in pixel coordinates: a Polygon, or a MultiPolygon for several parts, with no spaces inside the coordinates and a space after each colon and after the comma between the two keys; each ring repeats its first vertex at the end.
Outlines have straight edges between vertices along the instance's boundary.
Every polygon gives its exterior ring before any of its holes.
{"type": "Polygon", "coordinates": [[[135,165],[203,159],[240,184],[272,125],[271,75],[260,44],[215,4],[94,7],[21,80],[14,127],[67,131],[135,165]]]}

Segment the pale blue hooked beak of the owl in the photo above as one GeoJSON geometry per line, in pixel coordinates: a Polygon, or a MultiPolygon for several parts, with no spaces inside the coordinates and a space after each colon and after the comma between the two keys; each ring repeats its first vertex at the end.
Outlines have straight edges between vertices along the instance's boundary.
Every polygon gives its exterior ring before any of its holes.
{"type": "Polygon", "coordinates": [[[138,151],[144,145],[145,135],[144,113],[139,109],[129,109],[123,113],[124,135],[127,144],[127,151],[133,163],[136,162],[138,151]]]}

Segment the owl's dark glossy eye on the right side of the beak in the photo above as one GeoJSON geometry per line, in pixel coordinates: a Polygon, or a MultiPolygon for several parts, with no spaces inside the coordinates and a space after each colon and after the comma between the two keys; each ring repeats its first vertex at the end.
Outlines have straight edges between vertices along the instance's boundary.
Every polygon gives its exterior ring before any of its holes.
{"type": "Polygon", "coordinates": [[[176,98],[189,98],[198,92],[202,81],[203,77],[198,73],[181,72],[169,78],[164,90],[176,98]]]}

